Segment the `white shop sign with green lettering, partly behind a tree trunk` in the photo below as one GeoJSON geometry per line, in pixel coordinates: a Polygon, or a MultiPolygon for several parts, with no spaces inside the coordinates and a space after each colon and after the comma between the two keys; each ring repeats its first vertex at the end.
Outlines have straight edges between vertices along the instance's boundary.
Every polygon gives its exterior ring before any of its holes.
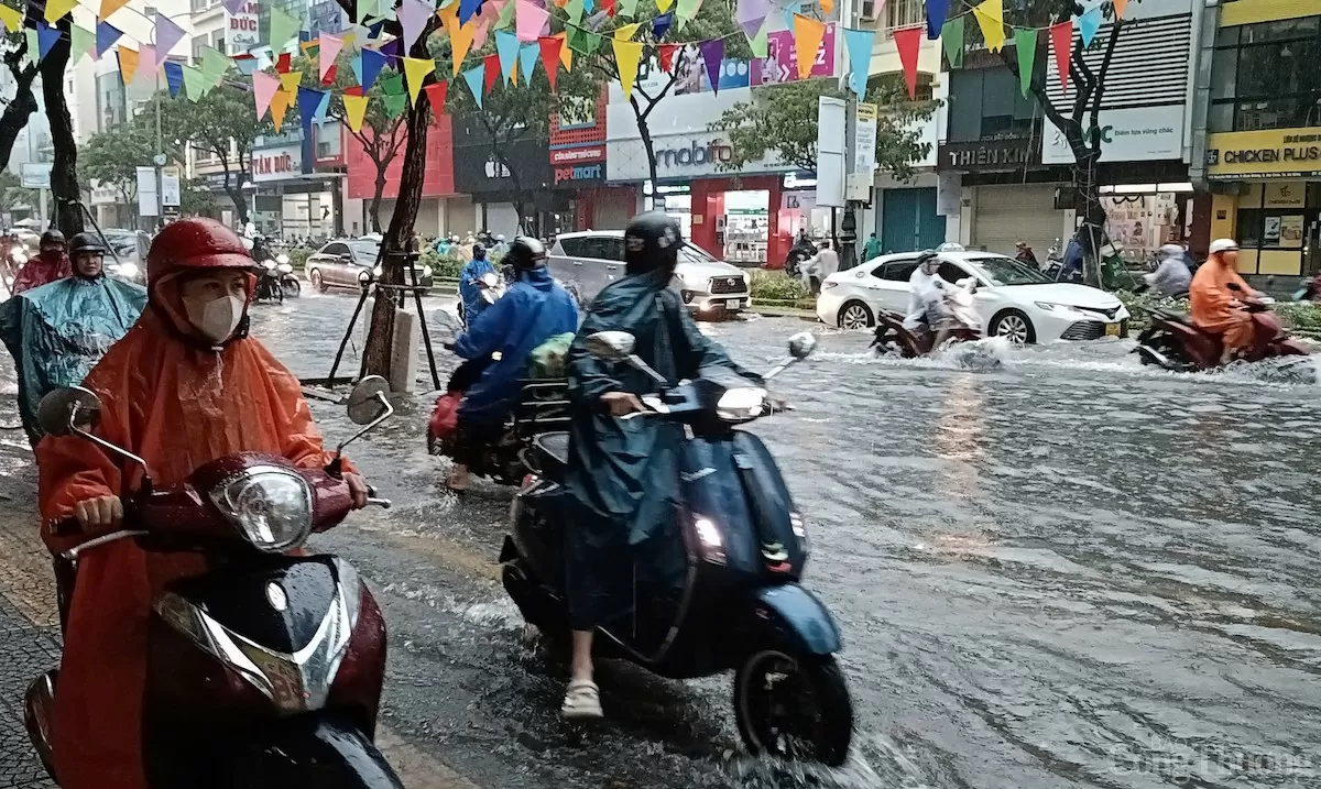
{"type": "MultiPolygon", "coordinates": [[[[1096,129],[1100,161],[1162,161],[1184,157],[1184,107],[1102,110],[1096,129]]],[[[1073,149],[1065,133],[1049,120],[1041,140],[1041,164],[1071,165],[1073,149]]]]}

